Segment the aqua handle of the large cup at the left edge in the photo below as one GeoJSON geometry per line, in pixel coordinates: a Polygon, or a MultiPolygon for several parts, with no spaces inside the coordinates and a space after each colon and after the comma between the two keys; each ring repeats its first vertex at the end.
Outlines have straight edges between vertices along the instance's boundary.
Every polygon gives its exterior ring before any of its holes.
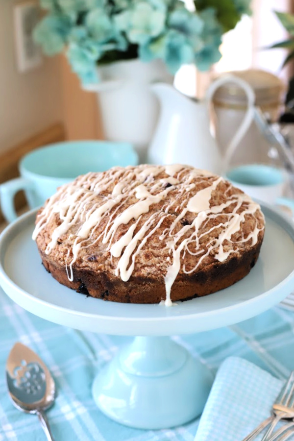
{"type": "Polygon", "coordinates": [[[11,179],[0,185],[0,207],[2,214],[7,222],[13,222],[17,219],[14,207],[14,196],[20,190],[31,190],[34,184],[28,179],[19,177],[11,179]]]}

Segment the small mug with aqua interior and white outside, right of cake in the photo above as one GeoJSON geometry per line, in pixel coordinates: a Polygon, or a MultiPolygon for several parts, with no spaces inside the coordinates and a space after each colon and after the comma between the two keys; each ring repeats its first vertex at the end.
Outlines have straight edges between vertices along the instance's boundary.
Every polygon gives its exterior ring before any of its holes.
{"type": "Polygon", "coordinates": [[[294,213],[294,200],[283,197],[288,180],[284,170],[265,164],[246,164],[227,171],[225,178],[247,195],[269,204],[287,205],[294,213]]]}

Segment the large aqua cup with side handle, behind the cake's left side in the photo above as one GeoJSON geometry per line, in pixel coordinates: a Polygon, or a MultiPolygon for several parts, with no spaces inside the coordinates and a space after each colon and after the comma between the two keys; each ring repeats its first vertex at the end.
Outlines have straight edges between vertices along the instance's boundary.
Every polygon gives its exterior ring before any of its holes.
{"type": "Polygon", "coordinates": [[[33,209],[80,174],[137,164],[138,155],[128,143],[72,141],[38,148],[20,161],[21,177],[0,185],[3,216],[8,222],[17,218],[13,200],[20,190],[25,191],[28,206],[33,209]]]}

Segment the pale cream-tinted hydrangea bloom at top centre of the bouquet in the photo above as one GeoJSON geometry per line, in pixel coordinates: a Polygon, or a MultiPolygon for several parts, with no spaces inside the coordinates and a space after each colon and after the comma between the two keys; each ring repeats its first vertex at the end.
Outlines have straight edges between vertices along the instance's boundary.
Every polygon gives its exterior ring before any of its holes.
{"type": "Polygon", "coordinates": [[[147,1],[138,1],[132,9],[117,14],[115,23],[131,43],[144,44],[158,36],[165,27],[166,14],[147,1]]]}

